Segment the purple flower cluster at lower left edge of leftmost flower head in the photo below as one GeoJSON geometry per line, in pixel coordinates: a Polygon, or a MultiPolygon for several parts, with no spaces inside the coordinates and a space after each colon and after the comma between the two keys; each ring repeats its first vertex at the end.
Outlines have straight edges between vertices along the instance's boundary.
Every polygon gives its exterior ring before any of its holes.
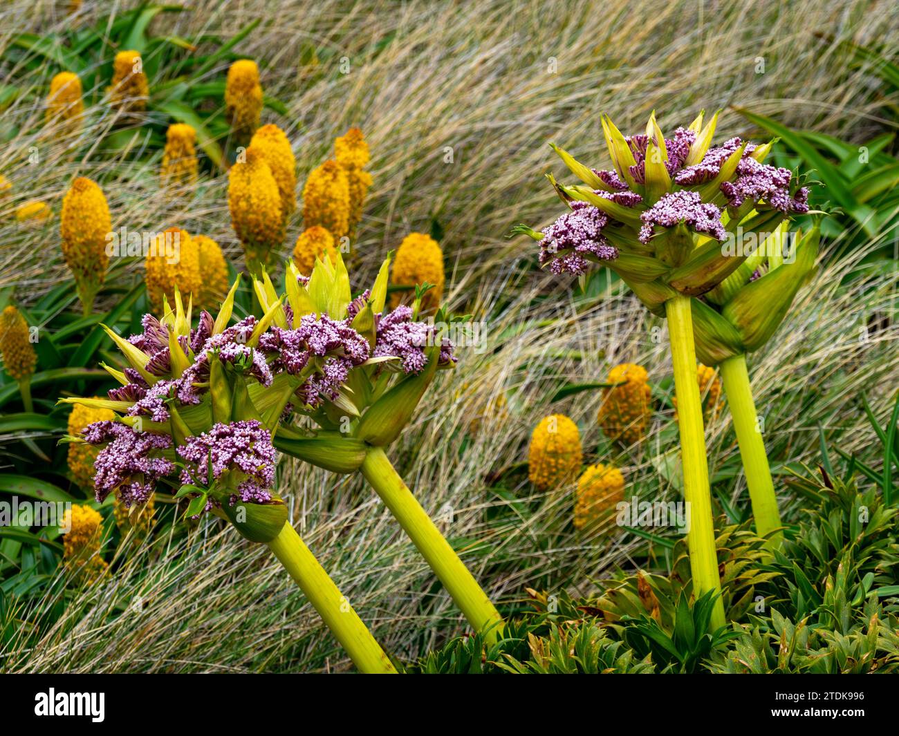
{"type": "Polygon", "coordinates": [[[97,501],[118,491],[126,507],[145,503],[156,489],[156,481],[174,472],[170,460],[151,457],[156,450],[172,447],[168,435],[136,432],[115,421],[96,421],[85,428],[85,440],[92,445],[108,443],[93,462],[97,501]]]}

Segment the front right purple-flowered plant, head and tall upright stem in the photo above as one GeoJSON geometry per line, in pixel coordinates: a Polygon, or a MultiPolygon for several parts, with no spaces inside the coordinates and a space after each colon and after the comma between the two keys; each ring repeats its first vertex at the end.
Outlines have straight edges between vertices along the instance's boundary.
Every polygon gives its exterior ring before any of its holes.
{"type": "MultiPolygon", "coordinates": [[[[625,137],[608,117],[602,128],[614,169],[592,169],[553,146],[583,184],[549,180],[570,211],[543,232],[515,232],[540,243],[540,264],[583,276],[593,263],[615,271],[654,314],[668,319],[681,434],[684,497],[690,503],[690,568],[694,590],[720,591],[702,404],[696,380],[691,297],[717,287],[746,260],[723,243],[758,243],[796,213],[808,190],[787,169],[764,164],[771,144],[731,138],[712,147],[717,113],[703,113],[672,138],[650,117],[644,135],[625,137]],[[733,241],[732,241],[733,242],[733,241]]],[[[743,249],[738,249],[743,250],[743,249]]],[[[720,598],[710,624],[725,624],[720,598]]]]}

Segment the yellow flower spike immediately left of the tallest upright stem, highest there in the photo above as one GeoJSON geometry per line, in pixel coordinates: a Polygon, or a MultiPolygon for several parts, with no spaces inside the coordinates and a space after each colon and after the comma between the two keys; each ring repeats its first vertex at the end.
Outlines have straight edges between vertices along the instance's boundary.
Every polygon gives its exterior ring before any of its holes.
{"type": "Polygon", "coordinates": [[[622,363],[609,371],[597,419],[605,435],[625,447],[644,439],[652,418],[652,389],[648,374],[636,363],[622,363]]]}

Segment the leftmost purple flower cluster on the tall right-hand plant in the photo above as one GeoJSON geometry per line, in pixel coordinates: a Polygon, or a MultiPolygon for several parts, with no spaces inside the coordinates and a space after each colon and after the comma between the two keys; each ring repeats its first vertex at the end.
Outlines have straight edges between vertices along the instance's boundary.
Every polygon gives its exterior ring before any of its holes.
{"type": "Polygon", "coordinates": [[[617,258],[618,249],[602,235],[602,228],[608,224],[609,217],[600,209],[586,202],[572,202],[571,212],[543,230],[540,265],[548,264],[552,273],[581,274],[590,265],[588,256],[599,261],[617,258]]]}

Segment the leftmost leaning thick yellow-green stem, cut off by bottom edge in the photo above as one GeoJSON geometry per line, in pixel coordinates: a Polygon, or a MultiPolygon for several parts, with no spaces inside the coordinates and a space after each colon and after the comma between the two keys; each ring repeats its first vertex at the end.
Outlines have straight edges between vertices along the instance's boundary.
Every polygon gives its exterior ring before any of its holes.
{"type": "Polygon", "coordinates": [[[343,649],[366,674],[396,674],[387,654],[289,523],[269,548],[297,582],[343,649]]]}

